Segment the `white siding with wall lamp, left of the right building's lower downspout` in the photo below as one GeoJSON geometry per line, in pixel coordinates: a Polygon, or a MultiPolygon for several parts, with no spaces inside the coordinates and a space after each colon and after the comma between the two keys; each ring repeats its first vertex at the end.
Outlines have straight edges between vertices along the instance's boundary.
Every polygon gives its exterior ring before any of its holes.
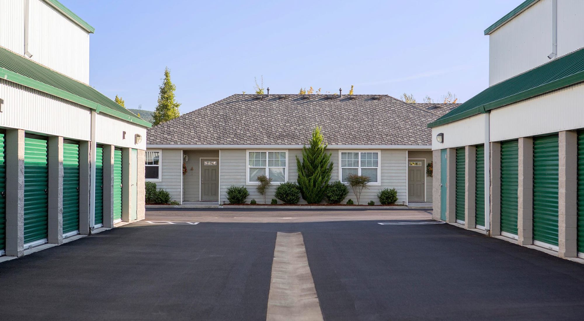
{"type": "Polygon", "coordinates": [[[486,114],[479,114],[432,128],[432,150],[484,143],[485,117],[486,114]],[[436,141],[440,132],[444,133],[442,144],[436,141]]]}

